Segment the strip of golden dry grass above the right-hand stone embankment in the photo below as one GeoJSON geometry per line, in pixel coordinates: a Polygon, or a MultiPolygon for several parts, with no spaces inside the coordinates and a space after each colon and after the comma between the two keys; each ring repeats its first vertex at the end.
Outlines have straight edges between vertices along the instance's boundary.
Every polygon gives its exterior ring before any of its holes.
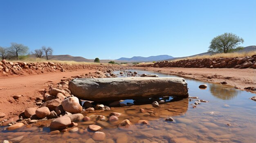
{"type": "Polygon", "coordinates": [[[214,59],[214,58],[221,58],[221,57],[245,57],[245,56],[252,56],[256,55],[256,51],[251,52],[244,52],[244,53],[218,53],[214,55],[201,55],[201,56],[194,56],[194,57],[186,57],[180,59],[173,59],[171,62],[180,61],[183,59],[214,59]]]}

